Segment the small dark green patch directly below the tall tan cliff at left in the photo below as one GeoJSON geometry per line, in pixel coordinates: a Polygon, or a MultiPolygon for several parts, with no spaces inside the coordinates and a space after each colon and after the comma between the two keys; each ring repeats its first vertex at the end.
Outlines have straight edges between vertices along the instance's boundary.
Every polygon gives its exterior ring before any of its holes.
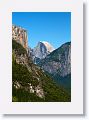
{"type": "Polygon", "coordinates": [[[18,52],[18,55],[27,54],[27,51],[23,46],[17,43],[15,40],[12,40],[12,49],[18,52]]]}

